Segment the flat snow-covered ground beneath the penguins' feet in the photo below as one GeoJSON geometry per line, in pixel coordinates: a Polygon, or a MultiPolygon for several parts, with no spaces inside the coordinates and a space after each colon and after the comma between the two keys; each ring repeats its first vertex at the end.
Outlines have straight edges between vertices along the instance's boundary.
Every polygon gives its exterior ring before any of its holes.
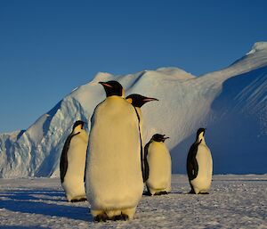
{"type": "Polygon", "coordinates": [[[107,223],[67,202],[58,178],[0,179],[0,228],[267,228],[267,175],[214,176],[209,195],[172,178],[172,193],[143,196],[134,220],[107,223]]]}

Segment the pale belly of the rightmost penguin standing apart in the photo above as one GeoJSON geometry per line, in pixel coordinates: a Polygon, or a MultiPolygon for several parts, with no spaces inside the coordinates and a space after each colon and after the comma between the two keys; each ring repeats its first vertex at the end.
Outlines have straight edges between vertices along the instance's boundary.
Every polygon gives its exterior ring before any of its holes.
{"type": "Polygon", "coordinates": [[[198,176],[190,183],[193,185],[196,193],[208,192],[212,182],[213,160],[206,144],[200,143],[198,145],[196,158],[198,161],[198,176]]]}

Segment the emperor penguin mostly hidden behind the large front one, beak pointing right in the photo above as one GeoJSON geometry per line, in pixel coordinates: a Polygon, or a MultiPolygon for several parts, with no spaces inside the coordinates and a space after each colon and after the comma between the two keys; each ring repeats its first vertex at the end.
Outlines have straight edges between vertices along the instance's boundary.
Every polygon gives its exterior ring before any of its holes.
{"type": "MultiPolygon", "coordinates": [[[[139,132],[140,132],[140,139],[141,139],[141,145],[142,145],[142,112],[141,112],[141,107],[146,102],[158,101],[158,99],[146,97],[146,96],[143,96],[141,94],[130,94],[126,97],[126,101],[130,102],[134,106],[137,118],[139,119],[139,132]]],[[[141,147],[140,156],[141,156],[141,163],[142,163],[142,180],[143,180],[143,182],[145,182],[145,178],[144,178],[144,153],[143,153],[142,147],[141,147]]]]}

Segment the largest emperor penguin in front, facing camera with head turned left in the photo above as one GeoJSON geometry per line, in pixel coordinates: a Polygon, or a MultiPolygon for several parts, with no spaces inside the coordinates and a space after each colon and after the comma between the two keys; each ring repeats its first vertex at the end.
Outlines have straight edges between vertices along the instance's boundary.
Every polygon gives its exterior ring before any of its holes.
{"type": "Polygon", "coordinates": [[[100,84],[106,99],[91,119],[86,195],[94,221],[133,219],[143,190],[139,120],[117,81],[100,84]]]}

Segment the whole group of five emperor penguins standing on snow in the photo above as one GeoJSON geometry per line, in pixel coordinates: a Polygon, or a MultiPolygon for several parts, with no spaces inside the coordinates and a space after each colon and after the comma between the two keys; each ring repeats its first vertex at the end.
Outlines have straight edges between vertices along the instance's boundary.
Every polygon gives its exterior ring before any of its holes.
{"type": "MultiPolygon", "coordinates": [[[[106,98],[93,110],[89,134],[77,120],[61,152],[61,185],[67,200],[88,200],[93,220],[133,219],[144,186],[150,196],[171,192],[172,162],[162,134],[143,147],[142,105],[158,101],[141,94],[125,97],[117,81],[99,82],[106,98]]],[[[207,193],[212,157],[199,128],[190,147],[187,172],[190,193],[207,193]]]]}

